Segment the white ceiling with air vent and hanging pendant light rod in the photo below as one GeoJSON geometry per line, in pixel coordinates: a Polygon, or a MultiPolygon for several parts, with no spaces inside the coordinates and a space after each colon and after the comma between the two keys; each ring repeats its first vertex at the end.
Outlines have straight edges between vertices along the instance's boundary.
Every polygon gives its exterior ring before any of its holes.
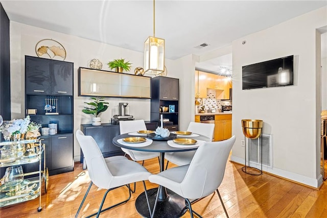
{"type": "MultiPolygon", "coordinates": [[[[153,35],[153,1],[0,0],[12,21],[143,52],[153,35]]],[[[327,1],[155,2],[155,36],[165,39],[166,58],[202,55],[232,40],[327,5],[327,1]],[[208,46],[200,47],[202,43],[208,46]]],[[[231,67],[231,54],[197,68],[231,67]]]]}

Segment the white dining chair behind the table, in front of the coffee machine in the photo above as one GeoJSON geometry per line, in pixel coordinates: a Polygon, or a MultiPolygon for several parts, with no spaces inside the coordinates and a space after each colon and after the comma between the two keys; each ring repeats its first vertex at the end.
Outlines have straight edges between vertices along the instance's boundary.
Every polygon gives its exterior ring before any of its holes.
{"type": "MultiPolygon", "coordinates": [[[[121,134],[137,132],[138,130],[147,130],[144,120],[120,121],[119,127],[121,134]]],[[[142,165],[144,164],[144,160],[149,160],[156,157],[159,158],[160,156],[160,153],[158,152],[136,151],[126,148],[122,148],[122,150],[125,152],[125,154],[129,155],[133,161],[143,161],[142,165]]]]}

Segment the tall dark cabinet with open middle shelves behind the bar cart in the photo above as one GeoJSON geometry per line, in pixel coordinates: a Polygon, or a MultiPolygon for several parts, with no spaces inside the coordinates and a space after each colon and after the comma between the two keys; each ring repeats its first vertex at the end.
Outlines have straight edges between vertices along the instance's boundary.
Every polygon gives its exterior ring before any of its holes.
{"type": "Polygon", "coordinates": [[[56,135],[41,136],[49,175],[74,170],[73,72],[74,63],[25,56],[26,115],[42,127],[57,124],[56,135]],[[36,109],[36,114],[29,114],[29,109],[36,109]]]}

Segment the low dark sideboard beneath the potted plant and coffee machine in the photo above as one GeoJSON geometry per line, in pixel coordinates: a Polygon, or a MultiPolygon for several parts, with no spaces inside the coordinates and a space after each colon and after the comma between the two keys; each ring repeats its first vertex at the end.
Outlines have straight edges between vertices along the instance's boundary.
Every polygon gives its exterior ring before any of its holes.
{"type": "MultiPolygon", "coordinates": [[[[158,127],[157,122],[145,121],[147,129],[155,130],[158,127]]],[[[92,126],[91,124],[82,124],[81,131],[86,136],[92,136],[97,142],[103,157],[111,157],[116,155],[124,155],[124,152],[120,147],[115,146],[112,143],[112,139],[115,136],[120,135],[119,125],[111,123],[102,123],[99,126],[92,126]]],[[[83,163],[83,152],[81,150],[80,161],[83,163]]]]}

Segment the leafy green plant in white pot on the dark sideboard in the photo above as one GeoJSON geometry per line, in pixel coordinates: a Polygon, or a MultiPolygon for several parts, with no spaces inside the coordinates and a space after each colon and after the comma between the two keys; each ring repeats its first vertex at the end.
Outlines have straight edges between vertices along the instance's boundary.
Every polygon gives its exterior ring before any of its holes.
{"type": "Polygon", "coordinates": [[[99,117],[100,113],[105,112],[108,109],[108,102],[104,102],[104,97],[90,97],[90,99],[94,100],[92,102],[84,102],[87,105],[92,107],[84,107],[82,110],[85,114],[92,114],[95,117],[92,118],[92,125],[101,125],[101,118],[99,117]]]}

